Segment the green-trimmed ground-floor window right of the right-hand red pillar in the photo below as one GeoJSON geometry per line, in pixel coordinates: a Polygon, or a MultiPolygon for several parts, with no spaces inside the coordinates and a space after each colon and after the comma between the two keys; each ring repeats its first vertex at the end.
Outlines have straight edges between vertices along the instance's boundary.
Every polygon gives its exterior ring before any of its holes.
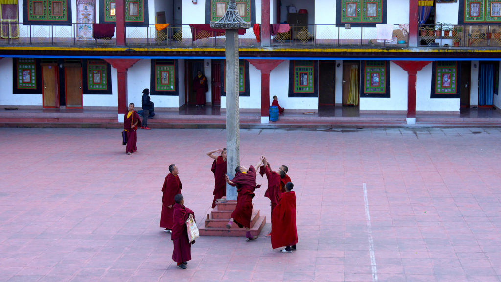
{"type": "Polygon", "coordinates": [[[432,64],[430,98],[459,98],[459,65],[455,61],[432,64]]]}

